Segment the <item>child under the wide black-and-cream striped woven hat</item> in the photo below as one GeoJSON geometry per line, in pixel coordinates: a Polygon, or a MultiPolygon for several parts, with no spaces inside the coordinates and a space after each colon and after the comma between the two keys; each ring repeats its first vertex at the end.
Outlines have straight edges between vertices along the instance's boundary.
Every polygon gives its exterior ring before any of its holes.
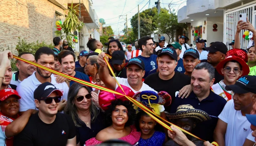
{"type": "MultiPolygon", "coordinates": [[[[172,123],[190,133],[196,127],[197,123],[211,119],[208,113],[200,109],[194,109],[194,107],[191,105],[178,106],[176,113],[165,112],[165,114],[172,123]]],[[[204,141],[201,141],[188,134],[185,135],[196,146],[204,146],[204,141]]],[[[164,146],[179,146],[179,144],[171,139],[167,141],[164,146]]]]}

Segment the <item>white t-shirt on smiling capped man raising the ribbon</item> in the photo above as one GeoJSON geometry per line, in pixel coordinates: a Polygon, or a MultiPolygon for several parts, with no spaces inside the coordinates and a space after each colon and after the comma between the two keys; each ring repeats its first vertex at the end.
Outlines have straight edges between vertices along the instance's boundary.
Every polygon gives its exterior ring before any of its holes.
{"type": "MultiPolygon", "coordinates": [[[[137,92],[142,92],[142,91],[154,91],[156,93],[158,93],[157,91],[155,91],[153,88],[149,87],[147,84],[145,84],[144,82],[142,82],[142,86],[140,88],[139,91],[135,91],[128,83],[128,80],[127,78],[119,78],[119,77],[116,77],[116,80],[119,82],[120,85],[124,85],[126,87],[129,87],[134,93],[137,93],[137,92]]],[[[116,83],[116,89],[118,88],[118,84],[116,83]]],[[[115,90],[116,90],[115,89],[115,90]]],[[[160,113],[163,112],[165,110],[164,106],[160,106],[161,108],[159,109],[160,110],[160,113]]]]}

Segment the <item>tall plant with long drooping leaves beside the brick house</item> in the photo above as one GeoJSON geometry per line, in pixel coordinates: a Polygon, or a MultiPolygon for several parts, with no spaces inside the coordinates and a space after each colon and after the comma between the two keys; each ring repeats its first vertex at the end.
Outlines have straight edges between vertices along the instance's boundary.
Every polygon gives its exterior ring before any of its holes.
{"type": "Polygon", "coordinates": [[[73,38],[77,37],[74,31],[79,32],[83,27],[83,22],[81,22],[77,16],[79,16],[79,4],[73,7],[73,1],[71,6],[68,6],[67,16],[63,24],[60,24],[61,30],[55,31],[55,35],[61,36],[61,39],[66,39],[69,42],[69,46],[73,46],[73,38]]]}

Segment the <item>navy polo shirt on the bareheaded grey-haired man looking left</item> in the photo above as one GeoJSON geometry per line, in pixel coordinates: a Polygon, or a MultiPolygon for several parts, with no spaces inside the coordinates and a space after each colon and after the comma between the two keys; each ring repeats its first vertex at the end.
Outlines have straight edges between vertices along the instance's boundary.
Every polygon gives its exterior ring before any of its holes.
{"type": "Polygon", "coordinates": [[[197,123],[196,127],[193,129],[192,134],[200,137],[206,141],[213,141],[213,131],[218,122],[218,116],[222,112],[227,101],[212,92],[206,99],[203,99],[201,102],[197,99],[197,96],[194,92],[191,92],[187,98],[179,98],[176,96],[174,103],[172,103],[170,113],[176,113],[177,107],[180,105],[190,104],[195,109],[201,109],[208,113],[211,116],[211,120],[207,120],[201,123],[197,123]]]}

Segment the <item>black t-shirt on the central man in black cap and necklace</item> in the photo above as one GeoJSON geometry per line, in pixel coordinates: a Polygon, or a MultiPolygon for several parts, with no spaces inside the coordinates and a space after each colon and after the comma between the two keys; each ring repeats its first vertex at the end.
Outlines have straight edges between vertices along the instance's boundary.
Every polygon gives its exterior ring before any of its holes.
{"type": "MultiPolygon", "coordinates": [[[[148,75],[144,83],[149,85],[155,91],[165,91],[172,97],[172,103],[175,100],[175,93],[182,89],[186,85],[190,85],[190,77],[180,72],[175,71],[175,75],[169,80],[162,80],[158,76],[158,72],[148,75]]],[[[169,111],[170,107],[165,107],[166,111],[169,111]]]]}

